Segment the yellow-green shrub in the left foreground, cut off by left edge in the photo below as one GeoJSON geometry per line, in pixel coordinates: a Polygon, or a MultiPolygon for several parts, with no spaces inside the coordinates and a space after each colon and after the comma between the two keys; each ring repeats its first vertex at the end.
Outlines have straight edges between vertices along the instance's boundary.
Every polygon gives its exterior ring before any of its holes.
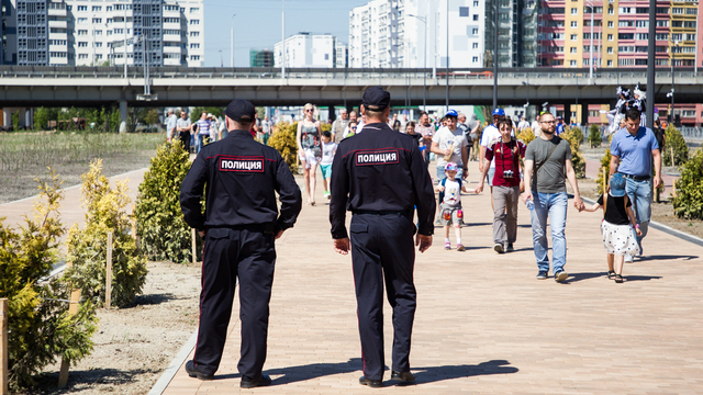
{"type": "MultiPolygon", "coordinates": [[[[49,169],[51,171],[51,169],[49,169]]],[[[38,180],[37,180],[38,181],[38,180]]],[[[0,297],[9,298],[9,382],[11,390],[35,384],[34,375],[59,357],[72,363],[90,354],[97,318],[90,301],[68,314],[70,286],[60,279],[43,281],[58,263],[58,245],[66,232],[58,204],[63,181],[51,171],[51,183],[38,181],[41,202],[33,219],[19,232],[0,218],[0,297]]]]}

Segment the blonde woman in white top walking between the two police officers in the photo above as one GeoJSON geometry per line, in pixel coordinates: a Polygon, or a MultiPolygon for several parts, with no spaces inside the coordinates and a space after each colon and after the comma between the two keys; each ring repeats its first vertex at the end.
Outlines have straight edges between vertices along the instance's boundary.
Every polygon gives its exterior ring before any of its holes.
{"type": "Polygon", "coordinates": [[[317,163],[322,157],[322,145],[320,137],[322,129],[320,122],[313,119],[315,106],[308,103],[303,108],[305,116],[298,123],[298,133],[295,134],[295,143],[298,144],[298,156],[303,165],[303,179],[305,192],[308,192],[308,204],[315,205],[315,187],[317,181],[315,172],[317,163]]]}

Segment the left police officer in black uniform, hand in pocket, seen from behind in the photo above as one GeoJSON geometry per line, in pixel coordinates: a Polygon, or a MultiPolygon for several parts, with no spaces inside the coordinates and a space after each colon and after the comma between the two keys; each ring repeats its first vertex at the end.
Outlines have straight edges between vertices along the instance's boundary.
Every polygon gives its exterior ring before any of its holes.
{"type": "Polygon", "coordinates": [[[278,151],[252,137],[255,113],[245,100],[227,105],[227,138],[202,148],[180,191],[186,223],[204,238],[198,345],[186,371],[200,380],[212,380],[217,371],[238,278],[242,348],[237,368],[244,388],[271,383],[261,369],[276,262],[274,240],[293,226],[302,204],[300,189],[278,151]]]}

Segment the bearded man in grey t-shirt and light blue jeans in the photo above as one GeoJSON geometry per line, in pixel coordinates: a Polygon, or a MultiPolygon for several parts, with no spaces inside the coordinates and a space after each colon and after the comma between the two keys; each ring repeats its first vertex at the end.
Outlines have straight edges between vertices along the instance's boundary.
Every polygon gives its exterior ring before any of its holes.
{"type": "Polygon", "coordinates": [[[525,193],[523,202],[534,203],[532,216],[532,238],[537,259],[537,280],[545,280],[549,273],[549,244],[547,240],[547,216],[551,224],[551,256],[554,279],[565,281],[569,274],[563,270],[567,262],[567,223],[568,195],[566,180],[573,190],[573,206],[583,210],[583,201],[576,181],[571,163],[569,143],[555,136],[554,115],[545,113],[539,117],[542,134],[527,145],[525,151],[525,193]],[[534,173],[533,173],[534,171],[534,173]]]}

